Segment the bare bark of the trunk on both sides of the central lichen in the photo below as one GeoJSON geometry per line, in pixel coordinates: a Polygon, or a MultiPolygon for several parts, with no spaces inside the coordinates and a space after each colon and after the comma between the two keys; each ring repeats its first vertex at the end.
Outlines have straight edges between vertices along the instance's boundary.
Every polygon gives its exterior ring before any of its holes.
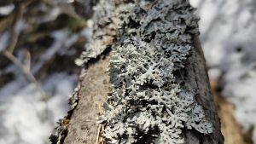
{"type": "MultiPolygon", "coordinates": [[[[195,130],[183,131],[186,144],[221,144],[224,138],[220,132],[220,124],[216,108],[213,104],[212,94],[207,76],[206,62],[202,53],[199,38],[195,37],[195,50],[189,57],[189,62],[183,70],[183,80],[189,89],[198,89],[197,101],[207,111],[206,115],[212,120],[216,130],[212,135],[201,135],[195,130]],[[187,73],[186,73],[187,72],[187,73]],[[186,74],[185,74],[186,73],[186,74]],[[186,75],[186,76],[185,76],[186,75]]],[[[90,65],[80,89],[81,99],[73,112],[68,127],[65,144],[95,144],[99,136],[100,124],[96,118],[102,112],[102,102],[107,100],[109,77],[106,69],[109,65],[109,55],[90,65]]]]}

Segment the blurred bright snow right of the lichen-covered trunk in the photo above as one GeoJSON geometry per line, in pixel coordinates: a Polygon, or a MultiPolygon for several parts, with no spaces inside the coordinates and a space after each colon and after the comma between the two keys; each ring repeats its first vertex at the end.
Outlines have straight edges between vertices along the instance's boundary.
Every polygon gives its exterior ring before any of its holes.
{"type": "Polygon", "coordinates": [[[256,1],[190,0],[201,16],[201,43],[212,80],[222,76],[222,94],[235,104],[244,130],[256,143],[256,1]]]}

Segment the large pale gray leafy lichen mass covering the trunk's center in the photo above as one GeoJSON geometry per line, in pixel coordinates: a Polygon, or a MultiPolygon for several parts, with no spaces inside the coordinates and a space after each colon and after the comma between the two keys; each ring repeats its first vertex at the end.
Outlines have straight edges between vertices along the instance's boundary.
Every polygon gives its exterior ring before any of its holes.
{"type": "Polygon", "coordinates": [[[120,38],[108,70],[113,90],[99,118],[104,141],[183,144],[184,129],[212,133],[195,92],[177,84],[174,74],[199,34],[195,9],[187,0],[118,2],[106,10],[114,11],[108,16],[118,21],[120,38]]]}

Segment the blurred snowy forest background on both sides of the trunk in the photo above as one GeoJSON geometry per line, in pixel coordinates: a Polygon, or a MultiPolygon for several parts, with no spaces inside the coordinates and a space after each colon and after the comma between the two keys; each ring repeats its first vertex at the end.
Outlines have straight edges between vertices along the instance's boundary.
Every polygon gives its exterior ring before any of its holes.
{"type": "MultiPolygon", "coordinates": [[[[46,144],[79,82],[94,1],[0,1],[0,144],[46,144]]],[[[190,0],[225,144],[256,144],[256,1],[190,0]]]]}

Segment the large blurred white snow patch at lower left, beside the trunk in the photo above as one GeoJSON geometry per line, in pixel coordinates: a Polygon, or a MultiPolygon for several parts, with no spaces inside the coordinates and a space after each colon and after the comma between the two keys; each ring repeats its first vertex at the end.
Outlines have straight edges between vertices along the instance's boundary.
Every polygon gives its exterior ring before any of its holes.
{"type": "Polygon", "coordinates": [[[41,95],[35,84],[27,84],[22,78],[1,89],[0,144],[49,143],[48,136],[55,122],[67,114],[67,100],[76,83],[77,77],[74,75],[50,75],[43,84],[49,97],[41,95]],[[15,87],[17,84],[23,87],[15,87]],[[17,90],[15,94],[1,93],[13,89],[17,90]]]}

